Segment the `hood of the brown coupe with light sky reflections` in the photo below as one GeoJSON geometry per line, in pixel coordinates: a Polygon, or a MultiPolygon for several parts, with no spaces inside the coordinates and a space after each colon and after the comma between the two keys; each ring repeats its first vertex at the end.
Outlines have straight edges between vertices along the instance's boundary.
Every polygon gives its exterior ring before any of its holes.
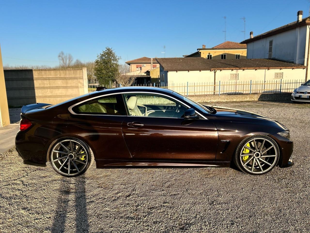
{"type": "Polygon", "coordinates": [[[254,112],[246,112],[240,109],[233,109],[219,106],[211,106],[211,107],[215,108],[216,110],[216,113],[214,115],[222,121],[272,126],[281,128],[281,130],[288,130],[284,125],[282,125],[278,121],[254,112]]]}

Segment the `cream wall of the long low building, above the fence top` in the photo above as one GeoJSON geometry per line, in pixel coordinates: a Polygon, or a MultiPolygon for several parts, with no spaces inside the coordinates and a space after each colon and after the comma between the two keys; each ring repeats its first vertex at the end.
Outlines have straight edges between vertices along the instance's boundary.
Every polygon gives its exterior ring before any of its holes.
{"type": "MultiPolygon", "coordinates": [[[[167,71],[166,71],[167,72],[167,71]]],[[[305,69],[270,69],[270,70],[217,70],[216,81],[226,82],[235,81],[230,79],[230,74],[238,74],[237,81],[263,81],[279,80],[275,79],[275,73],[283,73],[282,80],[300,80],[304,79],[305,69]]],[[[168,86],[180,83],[204,83],[214,81],[214,71],[169,71],[168,86]]]]}

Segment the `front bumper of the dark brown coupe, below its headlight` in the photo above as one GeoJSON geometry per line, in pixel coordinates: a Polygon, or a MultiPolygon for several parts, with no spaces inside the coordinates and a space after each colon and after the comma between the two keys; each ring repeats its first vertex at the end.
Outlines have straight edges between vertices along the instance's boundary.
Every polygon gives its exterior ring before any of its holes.
{"type": "Polygon", "coordinates": [[[280,153],[281,157],[279,160],[279,167],[291,167],[294,165],[294,161],[290,159],[292,153],[293,153],[293,148],[294,148],[294,143],[290,139],[284,138],[281,135],[278,134],[273,134],[270,135],[272,139],[276,140],[276,142],[279,144],[280,148],[280,153]]]}

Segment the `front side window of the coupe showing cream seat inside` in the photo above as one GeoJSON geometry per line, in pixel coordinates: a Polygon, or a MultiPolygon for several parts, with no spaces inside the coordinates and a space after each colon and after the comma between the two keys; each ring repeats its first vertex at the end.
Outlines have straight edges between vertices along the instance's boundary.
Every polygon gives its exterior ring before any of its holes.
{"type": "Polygon", "coordinates": [[[170,98],[155,94],[125,94],[130,116],[182,118],[188,109],[170,98]]]}

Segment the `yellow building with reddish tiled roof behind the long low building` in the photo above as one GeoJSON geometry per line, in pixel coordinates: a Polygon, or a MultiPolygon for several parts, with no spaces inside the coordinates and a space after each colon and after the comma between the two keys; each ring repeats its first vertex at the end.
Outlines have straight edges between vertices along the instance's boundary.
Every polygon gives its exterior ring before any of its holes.
{"type": "Polygon", "coordinates": [[[246,59],[246,44],[225,41],[212,48],[197,48],[197,52],[184,57],[203,57],[206,59],[246,59]]]}

